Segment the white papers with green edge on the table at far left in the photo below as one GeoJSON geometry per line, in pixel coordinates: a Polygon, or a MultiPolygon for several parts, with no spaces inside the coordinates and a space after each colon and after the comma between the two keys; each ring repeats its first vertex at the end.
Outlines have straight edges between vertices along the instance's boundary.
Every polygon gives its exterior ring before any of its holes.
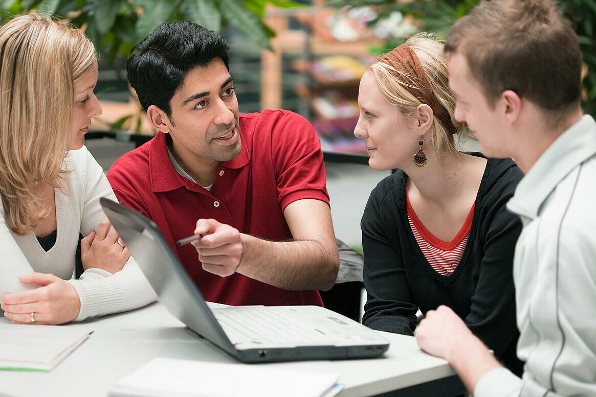
{"type": "Polygon", "coordinates": [[[89,330],[10,324],[0,329],[0,370],[50,371],[83,343],[89,330]]]}

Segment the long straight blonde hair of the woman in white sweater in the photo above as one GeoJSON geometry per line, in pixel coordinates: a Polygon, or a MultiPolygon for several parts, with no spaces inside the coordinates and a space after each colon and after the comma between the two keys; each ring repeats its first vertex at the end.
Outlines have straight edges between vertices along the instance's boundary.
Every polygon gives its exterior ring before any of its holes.
{"type": "Polygon", "coordinates": [[[32,12],[0,27],[0,195],[15,233],[46,215],[38,182],[66,189],[74,82],[95,62],[91,40],[67,21],[32,12]]]}

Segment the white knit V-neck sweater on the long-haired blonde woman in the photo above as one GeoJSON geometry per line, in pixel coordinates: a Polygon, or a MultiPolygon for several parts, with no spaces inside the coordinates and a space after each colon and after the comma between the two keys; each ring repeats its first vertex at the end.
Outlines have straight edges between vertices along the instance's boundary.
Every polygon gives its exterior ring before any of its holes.
{"type": "MultiPolygon", "coordinates": [[[[85,146],[70,151],[64,167],[72,173],[66,195],[55,189],[57,236],[49,251],[44,251],[33,232],[19,236],[8,228],[0,202],[0,277],[15,278],[27,271],[38,271],[70,279],[80,299],[80,312],[75,321],[132,310],[153,302],[157,298],[155,292],[132,257],[118,273],[91,268],[79,279],[72,280],[79,233],[86,236],[97,229],[104,217],[100,197],[115,200],[116,196],[85,146]]],[[[12,291],[0,290],[0,294],[5,292],[12,291]]]]}

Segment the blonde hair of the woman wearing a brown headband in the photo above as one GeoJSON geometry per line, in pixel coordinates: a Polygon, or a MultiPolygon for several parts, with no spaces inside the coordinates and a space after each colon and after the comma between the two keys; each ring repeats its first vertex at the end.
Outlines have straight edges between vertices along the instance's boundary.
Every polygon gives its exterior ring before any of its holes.
{"type": "MultiPolygon", "coordinates": [[[[443,53],[443,44],[432,33],[418,33],[410,37],[406,44],[420,60],[420,64],[432,87],[434,97],[448,112],[457,133],[464,132],[466,130],[465,124],[458,122],[454,117],[455,96],[449,88],[449,72],[447,70],[447,60],[443,53]]],[[[409,92],[407,87],[423,90],[419,79],[383,61],[375,61],[369,69],[373,73],[383,98],[398,108],[405,118],[414,114],[421,102],[409,92]],[[399,76],[399,79],[396,79],[396,76],[399,76]]],[[[436,115],[433,118],[432,145],[439,153],[458,154],[455,148],[454,134],[448,132],[436,115]]]]}

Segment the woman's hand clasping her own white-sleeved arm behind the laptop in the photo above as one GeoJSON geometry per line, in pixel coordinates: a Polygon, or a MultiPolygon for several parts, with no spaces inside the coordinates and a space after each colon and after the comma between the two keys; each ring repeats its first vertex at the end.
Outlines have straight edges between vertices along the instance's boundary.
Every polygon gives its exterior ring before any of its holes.
{"type": "Polygon", "coordinates": [[[98,268],[112,274],[122,270],[131,256],[107,217],[101,220],[97,230],[80,240],[80,253],[85,270],[98,268]]]}

